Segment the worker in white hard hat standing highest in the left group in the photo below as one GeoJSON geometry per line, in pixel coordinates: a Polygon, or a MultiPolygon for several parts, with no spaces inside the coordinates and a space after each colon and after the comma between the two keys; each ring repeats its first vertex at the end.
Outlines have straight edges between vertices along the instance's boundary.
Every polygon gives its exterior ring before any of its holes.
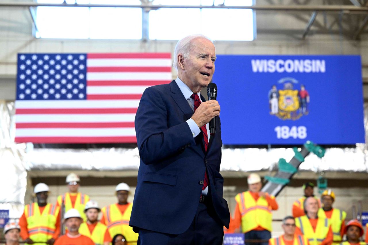
{"type": "Polygon", "coordinates": [[[83,221],[87,220],[86,214],[84,213],[84,208],[86,203],[89,201],[89,196],[78,192],[81,179],[77,174],[70,173],[67,175],[66,184],[69,192],[64,193],[57,197],[56,205],[61,207],[61,203],[65,205],[65,212],[70,209],[77,209],[83,221]]]}

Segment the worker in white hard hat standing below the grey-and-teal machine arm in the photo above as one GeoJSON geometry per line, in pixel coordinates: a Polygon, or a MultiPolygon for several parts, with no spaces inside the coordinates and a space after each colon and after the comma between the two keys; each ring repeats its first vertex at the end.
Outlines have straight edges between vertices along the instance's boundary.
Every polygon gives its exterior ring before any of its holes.
{"type": "MultiPolygon", "coordinates": [[[[238,193],[235,196],[236,207],[233,219],[235,231],[244,233],[244,239],[269,240],[272,231],[271,210],[277,210],[279,206],[274,196],[261,192],[261,177],[252,173],[247,178],[249,191],[238,193]]],[[[268,245],[268,242],[259,243],[268,245]]]]}

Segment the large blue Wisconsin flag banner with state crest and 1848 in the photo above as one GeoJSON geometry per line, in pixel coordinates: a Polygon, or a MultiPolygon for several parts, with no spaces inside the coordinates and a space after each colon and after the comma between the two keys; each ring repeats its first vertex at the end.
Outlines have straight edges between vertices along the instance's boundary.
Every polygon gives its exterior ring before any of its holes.
{"type": "Polygon", "coordinates": [[[225,145],[364,143],[360,56],[218,55],[225,145]]]}

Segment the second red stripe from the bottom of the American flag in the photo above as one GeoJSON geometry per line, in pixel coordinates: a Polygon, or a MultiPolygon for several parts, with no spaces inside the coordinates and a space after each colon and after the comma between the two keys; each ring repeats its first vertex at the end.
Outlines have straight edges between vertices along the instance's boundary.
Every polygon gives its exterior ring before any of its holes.
{"type": "Polygon", "coordinates": [[[134,128],[134,122],[120,123],[16,123],[15,128],[134,128]]]}

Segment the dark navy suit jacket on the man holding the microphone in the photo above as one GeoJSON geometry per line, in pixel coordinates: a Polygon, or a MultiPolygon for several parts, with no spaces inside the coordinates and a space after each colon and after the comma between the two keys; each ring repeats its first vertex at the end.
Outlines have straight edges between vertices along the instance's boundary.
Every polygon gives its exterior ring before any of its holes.
{"type": "MultiPolygon", "coordinates": [[[[202,97],[202,101],[205,101],[202,97]]],[[[193,138],[185,122],[193,115],[175,80],[147,88],[135,116],[141,163],[129,225],[168,234],[181,234],[192,223],[207,168],[215,211],[229,227],[230,213],[220,175],[221,130],[211,135],[205,152],[200,133],[193,138]],[[202,183],[202,182],[201,182],[202,183]]]]}

